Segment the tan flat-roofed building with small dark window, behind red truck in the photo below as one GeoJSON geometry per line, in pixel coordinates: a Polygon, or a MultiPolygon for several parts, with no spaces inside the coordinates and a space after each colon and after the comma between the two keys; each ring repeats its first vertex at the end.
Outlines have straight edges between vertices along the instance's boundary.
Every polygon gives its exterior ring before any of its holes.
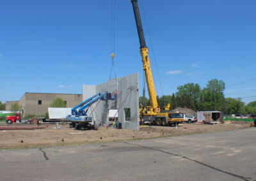
{"type": "Polygon", "coordinates": [[[10,110],[13,103],[19,103],[24,115],[45,115],[54,99],[61,98],[66,101],[67,108],[79,105],[83,101],[82,94],[52,94],[26,92],[20,101],[6,101],[6,110],[10,110]]]}

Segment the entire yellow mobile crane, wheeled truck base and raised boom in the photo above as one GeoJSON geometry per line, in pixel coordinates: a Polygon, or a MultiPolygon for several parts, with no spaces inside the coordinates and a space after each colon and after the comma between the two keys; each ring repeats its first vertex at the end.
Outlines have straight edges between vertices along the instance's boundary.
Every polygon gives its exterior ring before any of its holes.
{"type": "Polygon", "coordinates": [[[150,106],[140,108],[140,123],[147,122],[149,124],[156,124],[158,126],[166,126],[167,124],[179,124],[184,120],[182,113],[168,113],[167,111],[170,110],[170,103],[163,108],[158,106],[152,71],[148,59],[148,48],[146,46],[141,24],[138,0],[131,0],[131,3],[140,40],[140,54],[143,62],[143,71],[145,73],[148,96],[150,100],[150,106]]]}

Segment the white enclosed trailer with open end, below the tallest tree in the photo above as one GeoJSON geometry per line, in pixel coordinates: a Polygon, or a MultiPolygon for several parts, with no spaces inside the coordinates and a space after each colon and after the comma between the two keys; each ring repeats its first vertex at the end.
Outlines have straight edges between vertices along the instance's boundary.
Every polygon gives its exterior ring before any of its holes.
{"type": "Polygon", "coordinates": [[[218,111],[197,112],[197,122],[207,124],[223,122],[223,113],[218,111]]]}

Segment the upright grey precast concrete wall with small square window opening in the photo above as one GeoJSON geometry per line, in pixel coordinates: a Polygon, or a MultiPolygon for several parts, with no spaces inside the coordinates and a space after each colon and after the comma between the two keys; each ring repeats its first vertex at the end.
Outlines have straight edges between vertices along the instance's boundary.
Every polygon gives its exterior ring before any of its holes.
{"type": "Polygon", "coordinates": [[[114,78],[100,85],[83,85],[83,101],[97,94],[118,92],[118,99],[100,101],[94,103],[89,108],[87,114],[93,117],[97,124],[101,123],[106,126],[109,120],[109,110],[118,110],[118,121],[122,123],[122,128],[139,129],[139,75],[124,76],[122,78],[114,78]],[[131,111],[131,117],[125,118],[125,108],[131,111]],[[94,111],[93,111],[94,110],[94,111]],[[92,113],[93,111],[93,113],[92,113]]]}

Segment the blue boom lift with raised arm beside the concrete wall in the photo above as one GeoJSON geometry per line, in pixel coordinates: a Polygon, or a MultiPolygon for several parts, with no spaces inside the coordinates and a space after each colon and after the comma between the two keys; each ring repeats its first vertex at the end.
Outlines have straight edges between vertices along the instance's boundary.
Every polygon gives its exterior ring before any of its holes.
{"type": "Polygon", "coordinates": [[[91,116],[87,115],[88,109],[90,106],[95,103],[96,101],[102,100],[115,100],[117,97],[117,92],[104,92],[103,94],[100,94],[98,92],[91,98],[86,99],[83,101],[83,103],[80,103],[79,105],[75,106],[71,110],[71,115],[68,115],[66,117],[67,121],[70,121],[70,127],[75,127],[75,129],[81,130],[81,129],[95,129],[97,130],[98,127],[95,124],[95,121],[92,120],[91,116]],[[77,109],[79,109],[77,111],[77,109]],[[85,111],[84,111],[85,110],[85,111]]]}

